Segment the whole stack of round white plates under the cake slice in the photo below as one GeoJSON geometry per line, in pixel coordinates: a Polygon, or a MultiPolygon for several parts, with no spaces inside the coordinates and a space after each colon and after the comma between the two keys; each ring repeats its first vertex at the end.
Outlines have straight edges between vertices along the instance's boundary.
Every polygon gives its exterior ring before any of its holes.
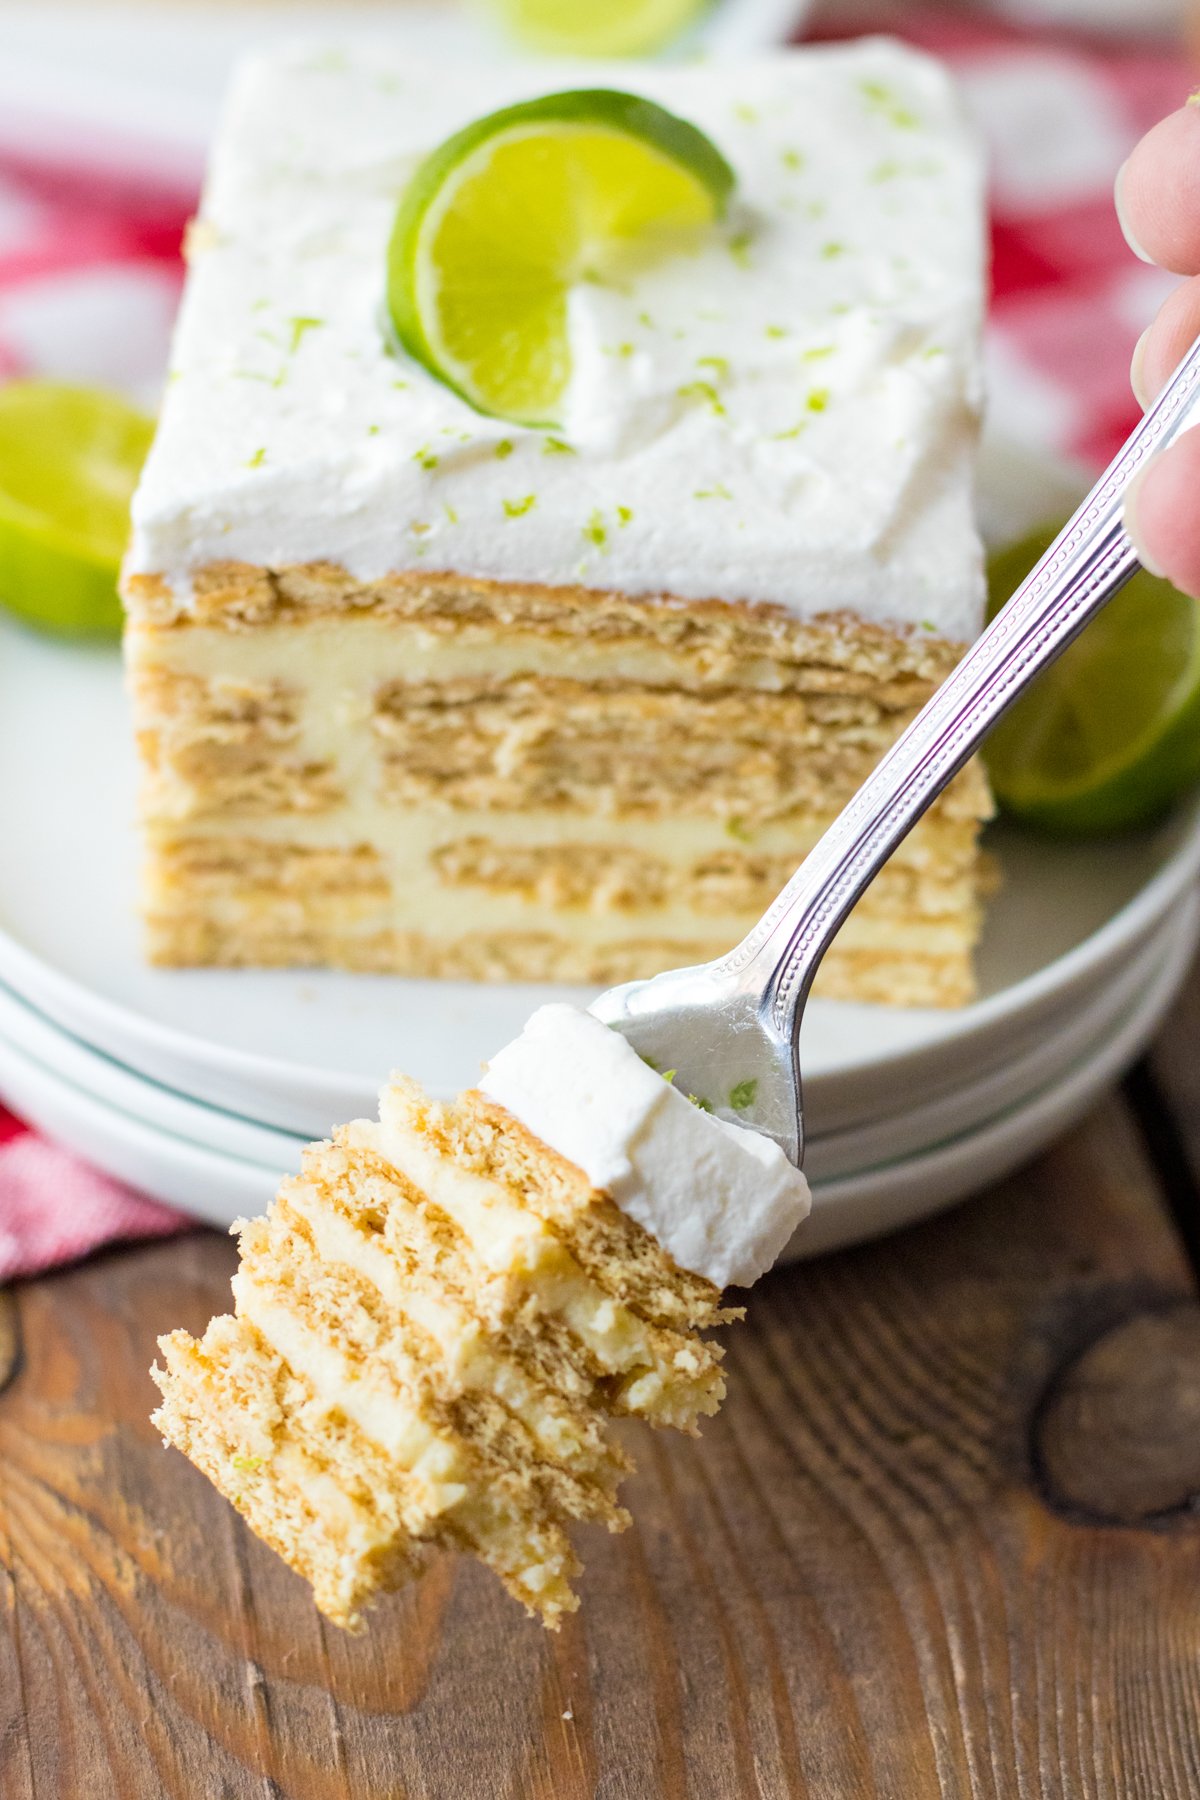
{"type": "MultiPolygon", "coordinates": [[[[1022,529],[1052,490],[1045,470],[993,461],[986,515],[1022,529]]],[[[563,994],[148,968],[133,792],[117,653],[0,625],[0,1098],[160,1199],[219,1224],[257,1210],[309,1138],[374,1111],[389,1069],[450,1094],[563,994]]],[[[1187,972],[1200,808],[1097,844],[997,828],[990,848],[1002,886],[975,1004],[810,1004],[815,1211],[797,1253],[1033,1156],[1139,1055],[1187,972]]]]}

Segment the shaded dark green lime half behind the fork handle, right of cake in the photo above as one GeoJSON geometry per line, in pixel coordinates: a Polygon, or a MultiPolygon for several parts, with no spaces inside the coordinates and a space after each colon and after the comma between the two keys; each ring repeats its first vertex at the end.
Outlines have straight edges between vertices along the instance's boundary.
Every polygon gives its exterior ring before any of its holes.
{"type": "MultiPolygon", "coordinates": [[[[995,616],[1058,536],[1047,526],[988,565],[995,616]]],[[[1139,572],[995,727],[1000,806],[1070,835],[1148,824],[1200,781],[1200,607],[1139,572]]]]}

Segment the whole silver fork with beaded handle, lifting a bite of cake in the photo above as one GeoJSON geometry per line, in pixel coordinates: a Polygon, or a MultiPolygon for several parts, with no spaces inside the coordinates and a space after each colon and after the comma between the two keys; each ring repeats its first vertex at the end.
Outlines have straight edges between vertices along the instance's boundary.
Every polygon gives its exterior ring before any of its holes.
{"type": "Polygon", "coordinates": [[[1200,425],[1200,340],[982,637],[729,956],[626,981],[592,1012],[675,1085],[804,1157],[797,1044],[820,958],[864,887],[1031,680],[1139,569],[1124,495],[1150,455],[1200,425]]]}

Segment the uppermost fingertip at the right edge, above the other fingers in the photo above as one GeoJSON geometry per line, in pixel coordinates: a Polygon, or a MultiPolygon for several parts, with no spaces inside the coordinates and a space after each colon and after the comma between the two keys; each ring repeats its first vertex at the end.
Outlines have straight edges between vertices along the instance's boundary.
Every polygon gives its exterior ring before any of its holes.
{"type": "Polygon", "coordinates": [[[1144,263],[1200,274],[1200,106],[1159,121],[1117,175],[1117,218],[1144,263]]]}

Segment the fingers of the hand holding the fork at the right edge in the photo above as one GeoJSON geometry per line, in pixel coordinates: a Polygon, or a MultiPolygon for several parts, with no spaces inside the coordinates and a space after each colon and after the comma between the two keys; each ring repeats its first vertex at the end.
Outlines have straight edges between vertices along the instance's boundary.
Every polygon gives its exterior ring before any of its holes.
{"type": "MultiPolygon", "coordinates": [[[[1200,95],[1148,131],[1124,164],[1117,216],[1144,263],[1191,277],[1133,351],[1133,392],[1148,407],[1200,337],[1200,95]]],[[[1200,598],[1200,428],[1133,482],[1124,522],[1146,569],[1200,598]]]]}

